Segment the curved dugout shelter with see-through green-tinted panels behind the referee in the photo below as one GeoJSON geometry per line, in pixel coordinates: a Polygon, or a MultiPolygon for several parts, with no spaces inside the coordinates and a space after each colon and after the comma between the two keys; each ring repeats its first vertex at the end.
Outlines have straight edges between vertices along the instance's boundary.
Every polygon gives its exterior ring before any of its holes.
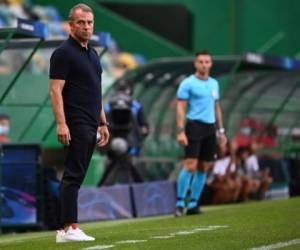
{"type": "MultiPolygon", "coordinates": [[[[286,57],[256,53],[214,57],[212,76],[220,82],[227,135],[248,140],[255,135],[263,142],[262,153],[299,157],[299,69],[299,61],[286,57]]],[[[193,72],[192,57],[164,58],[120,79],[133,86],[134,98],[143,105],[152,128],[142,148],[147,180],[175,176],[172,171],[182,156],[176,142],[176,90],[193,72]]]]}

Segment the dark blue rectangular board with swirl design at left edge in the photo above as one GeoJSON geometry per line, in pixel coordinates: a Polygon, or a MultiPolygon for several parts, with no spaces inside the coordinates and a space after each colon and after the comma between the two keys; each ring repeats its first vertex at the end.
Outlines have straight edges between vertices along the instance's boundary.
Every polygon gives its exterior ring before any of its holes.
{"type": "Polygon", "coordinates": [[[42,174],[39,144],[3,144],[0,163],[0,226],[41,227],[42,174]]]}

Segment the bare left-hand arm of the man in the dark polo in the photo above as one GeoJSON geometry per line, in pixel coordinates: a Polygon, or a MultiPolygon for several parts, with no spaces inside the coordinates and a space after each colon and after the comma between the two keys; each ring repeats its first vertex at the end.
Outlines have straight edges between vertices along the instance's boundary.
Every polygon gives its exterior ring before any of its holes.
{"type": "Polygon", "coordinates": [[[52,109],[56,120],[56,134],[58,140],[64,144],[69,145],[71,135],[66,124],[66,117],[64,112],[64,103],[62,98],[62,91],[65,85],[65,80],[51,79],[50,80],[50,96],[52,101],[52,109]]]}

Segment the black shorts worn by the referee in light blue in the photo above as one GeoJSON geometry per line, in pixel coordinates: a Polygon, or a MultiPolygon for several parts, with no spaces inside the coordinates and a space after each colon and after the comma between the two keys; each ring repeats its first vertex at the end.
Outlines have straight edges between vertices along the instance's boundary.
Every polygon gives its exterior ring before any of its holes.
{"type": "Polygon", "coordinates": [[[189,120],[185,132],[188,145],[185,147],[184,158],[202,161],[214,161],[217,153],[217,138],[214,124],[189,120]]]}

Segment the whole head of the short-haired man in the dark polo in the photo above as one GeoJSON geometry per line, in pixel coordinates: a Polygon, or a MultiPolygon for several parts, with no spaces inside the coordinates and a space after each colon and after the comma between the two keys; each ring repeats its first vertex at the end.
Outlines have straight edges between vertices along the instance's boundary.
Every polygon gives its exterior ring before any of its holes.
{"type": "Polygon", "coordinates": [[[86,4],[75,5],[69,13],[71,35],[80,42],[87,42],[94,31],[93,10],[86,4]]]}

